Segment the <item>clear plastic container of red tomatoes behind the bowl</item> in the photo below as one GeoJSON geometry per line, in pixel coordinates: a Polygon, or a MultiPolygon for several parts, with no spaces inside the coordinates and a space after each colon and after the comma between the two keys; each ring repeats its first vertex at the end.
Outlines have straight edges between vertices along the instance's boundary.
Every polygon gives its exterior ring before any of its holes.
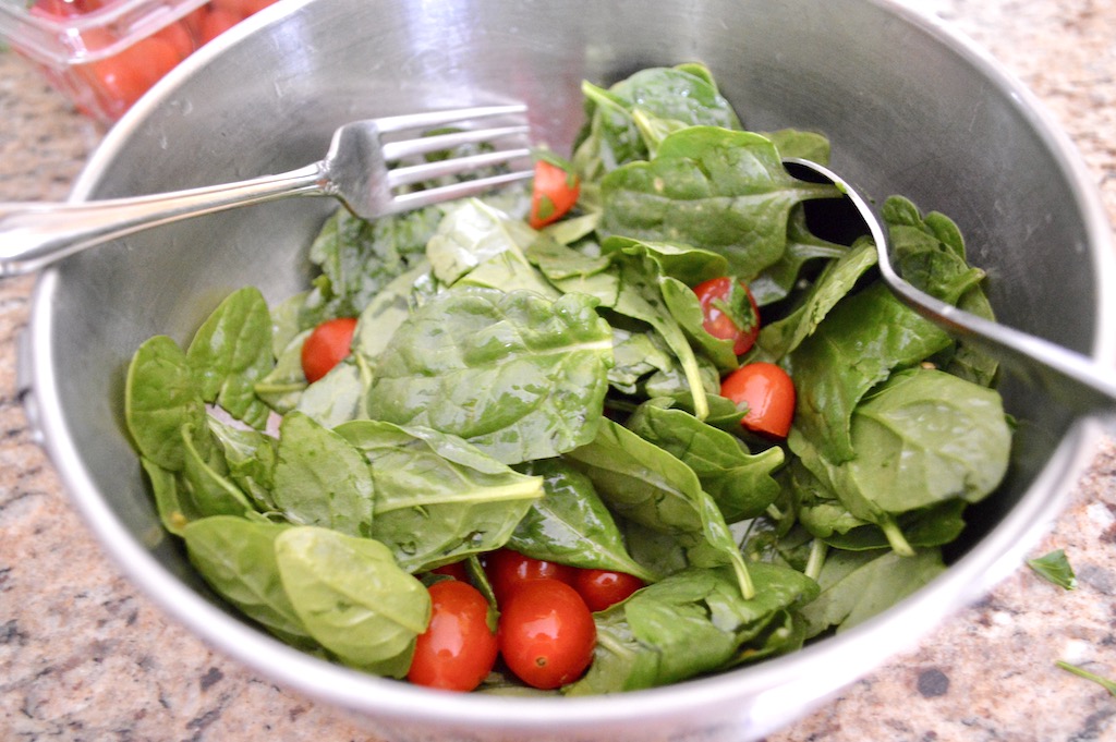
{"type": "Polygon", "coordinates": [[[0,37],[83,113],[118,119],[180,61],[276,0],[0,0],[0,37]]]}

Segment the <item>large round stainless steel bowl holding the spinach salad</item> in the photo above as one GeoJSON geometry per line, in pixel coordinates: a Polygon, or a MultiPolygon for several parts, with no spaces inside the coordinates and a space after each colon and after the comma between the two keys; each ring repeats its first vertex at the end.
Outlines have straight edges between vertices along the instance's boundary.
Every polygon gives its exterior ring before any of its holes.
{"type": "MultiPolygon", "coordinates": [[[[317,158],[338,124],[526,100],[568,144],[583,78],[701,60],[758,129],[828,134],[867,193],[952,215],[991,273],[1000,318],[1112,357],[1109,231],[1062,135],[993,61],[882,0],[287,0],[186,60],[114,129],[74,199],[179,189],[317,158]]],[[[146,337],[185,341],[225,292],[279,300],[307,280],[323,201],[164,227],[42,274],[25,360],[27,411],[105,548],[170,614],[257,672],[352,710],[391,739],[758,739],[1016,568],[1090,455],[1093,433],[1008,379],[1021,421],[1002,491],[974,511],[944,576],[798,654],[612,697],[439,695],[299,654],[241,621],[160,529],[122,425],[124,368],[146,337]]]]}

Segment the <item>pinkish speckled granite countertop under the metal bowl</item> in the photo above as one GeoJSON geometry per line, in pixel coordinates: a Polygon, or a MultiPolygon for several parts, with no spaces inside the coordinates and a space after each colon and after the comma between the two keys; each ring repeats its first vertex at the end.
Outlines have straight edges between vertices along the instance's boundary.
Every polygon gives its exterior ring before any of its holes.
{"type": "MultiPolygon", "coordinates": [[[[1019,76],[1080,150],[1116,223],[1116,0],[908,0],[1019,76]]],[[[0,201],[62,199],[103,129],[0,52],[0,201]]],[[[0,739],[353,740],[340,713],[213,652],[136,592],[27,428],[16,338],[33,279],[0,282],[0,739]]],[[[1020,567],[902,656],[770,742],[1116,740],[1116,445],[1104,440],[1020,567]]]]}

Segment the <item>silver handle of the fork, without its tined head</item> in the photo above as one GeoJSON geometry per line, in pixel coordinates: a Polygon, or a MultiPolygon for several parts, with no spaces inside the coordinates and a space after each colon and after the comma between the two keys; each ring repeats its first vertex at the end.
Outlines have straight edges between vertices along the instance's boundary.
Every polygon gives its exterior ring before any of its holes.
{"type": "Polygon", "coordinates": [[[288,195],[324,195],[321,163],[238,183],[128,199],[0,203],[0,278],[37,271],[141,230],[288,195]]]}

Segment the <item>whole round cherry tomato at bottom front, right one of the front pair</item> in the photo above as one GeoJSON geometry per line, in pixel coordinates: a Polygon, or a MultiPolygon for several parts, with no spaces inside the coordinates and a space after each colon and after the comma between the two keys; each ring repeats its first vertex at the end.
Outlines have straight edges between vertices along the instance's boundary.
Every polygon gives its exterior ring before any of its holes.
{"type": "Polygon", "coordinates": [[[597,627],[577,590],[554,579],[528,580],[500,611],[500,653],[528,685],[561,687],[593,662],[597,627]]]}

